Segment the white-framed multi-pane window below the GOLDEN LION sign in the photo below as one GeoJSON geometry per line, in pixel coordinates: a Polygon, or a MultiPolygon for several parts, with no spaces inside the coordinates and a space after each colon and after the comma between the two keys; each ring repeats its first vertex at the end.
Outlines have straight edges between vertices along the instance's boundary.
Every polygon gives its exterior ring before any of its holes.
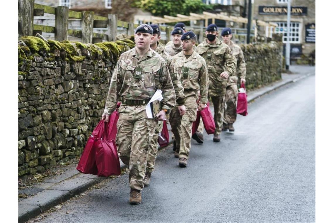
{"type": "MultiPolygon", "coordinates": [[[[278,26],[275,27],[275,33],[283,33],[283,43],[288,40],[287,22],[276,22],[278,26]]],[[[299,22],[290,22],[290,43],[300,43],[301,27],[299,22]]]]}

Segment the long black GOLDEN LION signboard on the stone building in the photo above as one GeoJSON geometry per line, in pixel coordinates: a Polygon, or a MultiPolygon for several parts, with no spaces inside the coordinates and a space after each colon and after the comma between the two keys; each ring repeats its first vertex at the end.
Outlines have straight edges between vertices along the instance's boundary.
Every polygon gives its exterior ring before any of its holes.
{"type": "MultiPolygon", "coordinates": [[[[287,15],[286,6],[259,6],[260,15],[287,15]]],[[[291,7],[291,15],[307,15],[307,7],[291,7]]]]}

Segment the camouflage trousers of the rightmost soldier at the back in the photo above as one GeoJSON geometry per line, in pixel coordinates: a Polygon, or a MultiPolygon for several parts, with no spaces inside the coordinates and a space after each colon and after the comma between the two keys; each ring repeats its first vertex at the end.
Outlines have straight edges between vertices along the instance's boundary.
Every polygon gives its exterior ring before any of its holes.
{"type": "Polygon", "coordinates": [[[226,87],[224,104],[224,123],[234,123],[236,120],[236,100],[238,97],[238,87],[236,84],[226,87]]]}

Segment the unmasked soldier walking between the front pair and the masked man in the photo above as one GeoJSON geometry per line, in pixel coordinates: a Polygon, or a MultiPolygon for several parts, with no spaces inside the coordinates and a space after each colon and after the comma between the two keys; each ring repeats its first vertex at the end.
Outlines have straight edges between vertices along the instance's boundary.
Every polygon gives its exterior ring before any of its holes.
{"type": "Polygon", "coordinates": [[[205,60],[193,49],[195,37],[192,31],[184,33],[181,37],[183,51],[172,57],[175,71],[181,74],[187,109],[181,117],[178,109],[173,108],[169,119],[177,147],[174,156],[179,158],[180,167],[186,167],[189,159],[191,127],[196,120],[196,109],[202,110],[207,103],[207,68],[205,60]],[[198,90],[201,98],[197,105],[198,90]]]}

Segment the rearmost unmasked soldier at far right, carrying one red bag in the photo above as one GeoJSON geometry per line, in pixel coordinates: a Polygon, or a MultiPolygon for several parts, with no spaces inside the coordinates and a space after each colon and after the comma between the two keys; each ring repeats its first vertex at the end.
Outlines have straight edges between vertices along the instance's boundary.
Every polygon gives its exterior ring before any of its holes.
{"type": "Polygon", "coordinates": [[[224,123],[222,131],[233,132],[234,127],[233,123],[236,120],[236,100],[238,97],[238,87],[237,82],[240,78],[240,84],[246,82],[246,63],[243,58],[243,52],[240,46],[233,43],[232,31],[230,28],[224,28],[221,32],[224,43],[226,43],[232,50],[232,54],[235,57],[236,69],[234,74],[229,76],[227,86],[226,86],[226,95],[225,95],[225,107],[224,107],[224,123]]]}

